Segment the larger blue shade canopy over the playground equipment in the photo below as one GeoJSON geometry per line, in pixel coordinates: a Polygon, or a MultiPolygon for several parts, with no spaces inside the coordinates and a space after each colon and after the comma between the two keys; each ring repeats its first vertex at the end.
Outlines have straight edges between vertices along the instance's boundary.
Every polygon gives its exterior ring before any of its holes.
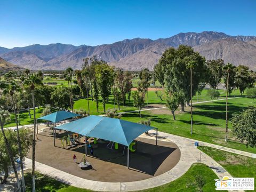
{"type": "Polygon", "coordinates": [[[106,139],[129,146],[130,143],[142,133],[155,129],[154,127],[132,123],[116,118],[91,115],[57,127],[61,130],[71,131],[106,139]]]}

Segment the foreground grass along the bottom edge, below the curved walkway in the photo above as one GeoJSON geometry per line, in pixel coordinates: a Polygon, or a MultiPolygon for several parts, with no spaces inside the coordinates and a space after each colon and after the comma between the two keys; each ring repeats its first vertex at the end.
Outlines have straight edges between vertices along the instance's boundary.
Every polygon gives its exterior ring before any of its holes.
{"type": "MultiPolygon", "coordinates": [[[[193,181],[196,174],[201,174],[205,179],[205,185],[203,191],[214,191],[215,190],[215,181],[217,175],[206,165],[204,164],[193,164],[190,169],[182,175],[179,179],[172,181],[166,185],[142,190],[145,192],[153,191],[196,191],[194,186],[187,186],[187,183],[193,181]]],[[[27,173],[25,177],[27,191],[31,191],[31,174],[27,173]]],[[[36,191],[58,191],[58,192],[89,192],[91,190],[81,189],[66,185],[60,181],[49,178],[45,175],[36,173],[36,191]]],[[[141,192],[142,192],[141,191],[141,192]]]]}

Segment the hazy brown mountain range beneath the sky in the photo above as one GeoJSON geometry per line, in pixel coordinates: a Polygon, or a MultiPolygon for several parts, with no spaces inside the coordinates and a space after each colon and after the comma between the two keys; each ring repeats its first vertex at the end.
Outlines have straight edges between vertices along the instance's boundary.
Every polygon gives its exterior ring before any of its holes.
{"type": "Polygon", "coordinates": [[[83,58],[96,55],[125,70],[154,68],[168,47],[189,45],[206,59],[223,59],[234,65],[246,65],[256,70],[256,36],[230,36],[215,31],[180,33],[170,38],[124,39],[113,44],[89,45],[30,45],[7,49],[0,47],[0,57],[23,68],[55,70],[73,67],[79,69],[83,58]]]}

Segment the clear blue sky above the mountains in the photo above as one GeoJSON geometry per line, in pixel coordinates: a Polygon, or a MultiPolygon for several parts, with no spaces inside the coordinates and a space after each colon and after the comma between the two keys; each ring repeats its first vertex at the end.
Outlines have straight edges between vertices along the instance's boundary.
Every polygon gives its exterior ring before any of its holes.
{"type": "Polygon", "coordinates": [[[180,32],[256,35],[255,0],[1,0],[0,46],[99,45],[180,32]]]}

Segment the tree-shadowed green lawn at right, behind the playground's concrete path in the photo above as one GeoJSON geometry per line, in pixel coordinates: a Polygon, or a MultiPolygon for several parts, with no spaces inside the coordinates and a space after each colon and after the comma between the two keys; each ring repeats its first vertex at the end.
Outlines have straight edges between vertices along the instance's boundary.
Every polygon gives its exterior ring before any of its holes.
{"type": "MultiPolygon", "coordinates": [[[[247,106],[252,105],[252,100],[248,98],[230,99],[228,105],[230,118],[232,114],[239,113],[247,106]]],[[[256,148],[247,148],[235,139],[230,124],[229,141],[225,142],[226,100],[201,103],[194,106],[193,135],[190,134],[190,108],[187,108],[185,113],[177,112],[176,121],[173,120],[170,111],[150,110],[142,111],[141,114],[142,119],[150,118],[151,126],[157,127],[159,131],[256,153],[256,148]]],[[[135,123],[141,121],[138,113],[123,114],[122,119],[135,123]]]]}

